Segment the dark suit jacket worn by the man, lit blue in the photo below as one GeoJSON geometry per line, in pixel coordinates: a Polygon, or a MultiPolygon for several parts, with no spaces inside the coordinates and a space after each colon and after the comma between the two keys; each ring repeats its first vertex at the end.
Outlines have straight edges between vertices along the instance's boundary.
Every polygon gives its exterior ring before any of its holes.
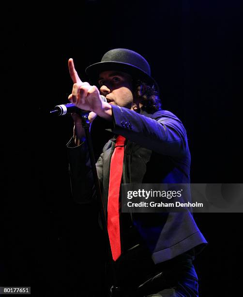
{"type": "MultiPolygon", "coordinates": [[[[128,140],[124,150],[124,183],[190,183],[186,131],[175,115],[165,110],[138,114],[119,106],[112,106],[112,113],[112,132],[128,140]]],[[[115,139],[106,143],[96,163],[105,212],[115,139]]],[[[74,147],[71,139],[67,147],[73,197],[78,203],[91,203],[96,194],[87,144],[74,147]]],[[[197,253],[207,243],[189,212],[133,214],[132,221],[155,264],[194,247],[197,253]]]]}

